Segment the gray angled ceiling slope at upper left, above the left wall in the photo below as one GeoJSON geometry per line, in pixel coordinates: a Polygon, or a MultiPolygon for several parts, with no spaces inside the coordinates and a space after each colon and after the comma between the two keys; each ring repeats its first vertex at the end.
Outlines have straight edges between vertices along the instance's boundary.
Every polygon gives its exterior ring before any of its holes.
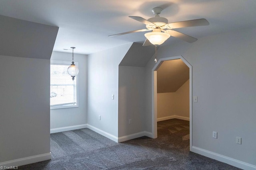
{"type": "Polygon", "coordinates": [[[50,59],[58,27],[0,15],[0,55],[50,59]]]}

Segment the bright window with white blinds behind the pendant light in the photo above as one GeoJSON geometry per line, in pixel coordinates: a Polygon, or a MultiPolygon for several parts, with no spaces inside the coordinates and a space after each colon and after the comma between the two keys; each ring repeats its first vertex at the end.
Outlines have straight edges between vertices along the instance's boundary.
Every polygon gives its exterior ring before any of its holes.
{"type": "MultiPolygon", "coordinates": [[[[78,63],[76,63],[78,66],[78,63]]],[[[70,62],[51,61],[50,66],[50,108],[78,107],[78,76],[75,80],[68,74],[70,62]]]]}

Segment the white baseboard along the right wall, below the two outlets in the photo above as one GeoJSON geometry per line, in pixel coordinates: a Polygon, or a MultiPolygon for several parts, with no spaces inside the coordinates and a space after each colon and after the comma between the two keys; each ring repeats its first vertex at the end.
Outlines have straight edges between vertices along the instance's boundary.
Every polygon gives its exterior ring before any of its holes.
{"type": "Polygon", "coordinates": [[[211,151],[208,151],[208,150],[200,149],[198,147],[193,146],[190,149],[190,151],[195,152],[195,153],[200,154],[200,155],[203,155],[203,156],[206,156],[208,158],[218,160],[220,162],[224,162],[226,164],[230,164],[230,165],[235,166],[237,168],[241,168],[241,169],[244,169],[244,170],[256,170],[256,166],[254,166],[254,165],[251,165],[251,164],[248,164],[248,163],[245,163],[245,162],[242,162],[240,160],[233,159],[233,158],[229,158],[227,156],[223,156],[221,154],[217,154],[217,153],[214,153],[214,152],[211,152],[211,151]]]}

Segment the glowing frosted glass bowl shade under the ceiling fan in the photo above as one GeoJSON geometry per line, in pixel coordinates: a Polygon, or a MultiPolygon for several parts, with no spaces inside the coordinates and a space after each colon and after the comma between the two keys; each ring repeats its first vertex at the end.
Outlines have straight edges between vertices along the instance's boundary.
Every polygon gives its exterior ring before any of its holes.
{"type": "Polygon", "coordinates": [[[150,32],[145,33],[145,37],[150,41],[151,44],[161,45],[170,37],[170,34],[163,32],[150,32]]]}

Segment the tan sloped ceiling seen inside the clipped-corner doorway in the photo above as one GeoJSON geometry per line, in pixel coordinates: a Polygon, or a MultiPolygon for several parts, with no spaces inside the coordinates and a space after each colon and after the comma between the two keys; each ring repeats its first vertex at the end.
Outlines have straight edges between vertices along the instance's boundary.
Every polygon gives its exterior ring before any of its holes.
{"type": "Polygon", "coordinates": [[[189,68],[181,59],[164,61],[157,69],[157,92],[176,92],[189,79],[189,68]]]}

